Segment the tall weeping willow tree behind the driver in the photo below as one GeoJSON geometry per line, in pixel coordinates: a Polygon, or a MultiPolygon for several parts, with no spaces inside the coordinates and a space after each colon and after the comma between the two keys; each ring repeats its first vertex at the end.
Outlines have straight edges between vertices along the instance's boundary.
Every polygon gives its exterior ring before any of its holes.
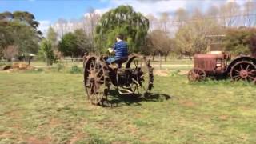
{"type": "Polygon", "coordinates": [[[149,20],[131,6],[118,6],[102,15],[96,26],[95,42],[99,51],[113,46],[115,36],[123,34],[130,52],[140,51],[149,29],[149,20]]]}

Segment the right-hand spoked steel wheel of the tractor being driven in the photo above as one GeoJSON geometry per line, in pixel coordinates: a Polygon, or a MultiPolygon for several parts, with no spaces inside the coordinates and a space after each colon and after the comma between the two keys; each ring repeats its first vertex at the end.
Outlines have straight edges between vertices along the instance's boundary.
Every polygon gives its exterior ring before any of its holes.
{"type": "Polygon", "coordinates": [[[145,57],[132,56],[126,63],[126,69],[135,77],[129,83],[133,94],[149,94],[153,88],[154,75],[150,61],[145,57]]]}

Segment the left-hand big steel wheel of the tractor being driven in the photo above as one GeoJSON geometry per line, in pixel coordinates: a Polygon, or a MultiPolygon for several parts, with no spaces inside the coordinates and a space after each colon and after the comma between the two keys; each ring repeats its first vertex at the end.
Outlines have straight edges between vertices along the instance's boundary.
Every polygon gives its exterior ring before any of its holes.
{"type": "Polygon", "coordinates": [[[109,86],[106,66],[96,57],[90,57],[85,62],[84,85],[92,104],[100,105],[107,100],[109,86]]]}

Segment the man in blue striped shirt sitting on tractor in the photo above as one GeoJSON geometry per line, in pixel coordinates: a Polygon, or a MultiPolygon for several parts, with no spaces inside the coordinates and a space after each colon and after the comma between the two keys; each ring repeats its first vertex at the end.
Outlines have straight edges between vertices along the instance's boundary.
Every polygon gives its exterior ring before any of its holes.
{"type": "Polygon", "coordinates": [[[117,42],[114,44],[113,48],[110,48],[108,51],[110,54],[114,53],[114,57],[107,58],[106,63],[117,63],[118,68],[122,67],[122,63],[126,62],[128,59],[128,45],[123,41],[122,34],[118,34],[116,37],[117,42]]]}

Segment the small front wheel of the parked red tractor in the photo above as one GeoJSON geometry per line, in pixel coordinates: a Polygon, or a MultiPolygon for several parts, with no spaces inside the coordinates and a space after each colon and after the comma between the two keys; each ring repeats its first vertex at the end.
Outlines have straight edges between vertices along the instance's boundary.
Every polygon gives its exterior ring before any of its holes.
{"type": "Polygon", "coordinates": [[[204,70],[194,68],[189,71],[187,78],[190,82],[204,81],[206,80],[206,72],[204,70]]]}

